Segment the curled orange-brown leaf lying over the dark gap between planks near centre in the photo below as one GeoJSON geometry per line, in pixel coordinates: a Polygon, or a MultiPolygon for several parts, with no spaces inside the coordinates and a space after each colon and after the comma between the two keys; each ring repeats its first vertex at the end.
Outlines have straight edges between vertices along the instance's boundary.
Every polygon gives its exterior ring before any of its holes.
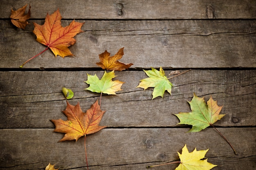
{"type": "Polygon", "coordinates": [[[124,55],[124,47],[120,48],[117,54],[111,57],[110,57],[110,53],[107,50],[105,50],[105,52],[99,54],[100,62],[96,64],[106,70],[116,70],[116,71],[126,70],[133,64],[132,63],[125,64],[117,61],[121,59],[123,55],[124,55]]]}

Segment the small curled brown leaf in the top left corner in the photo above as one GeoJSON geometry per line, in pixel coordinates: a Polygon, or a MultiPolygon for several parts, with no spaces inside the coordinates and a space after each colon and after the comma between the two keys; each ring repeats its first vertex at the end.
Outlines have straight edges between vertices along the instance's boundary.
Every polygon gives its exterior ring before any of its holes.
{"type": "Polygon", "coordinates": [[[11,16],[10,16],[11,23],[17,26],[18,28],[25,29],[25,27],[29,24],[27,20],[30,18],[30,15],[31,15],[30,4],[29,4],[29,11],[27,12],[27,14],[25,14],[26,8],[27,8],[27,4],[16,11],[11,9],[11,16]]]}

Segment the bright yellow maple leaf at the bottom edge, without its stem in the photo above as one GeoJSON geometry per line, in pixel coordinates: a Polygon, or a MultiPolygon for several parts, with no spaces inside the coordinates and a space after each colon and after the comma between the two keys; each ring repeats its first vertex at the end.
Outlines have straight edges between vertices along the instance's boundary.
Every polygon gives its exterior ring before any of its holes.
{"type": "Polygon", "coordinates": [[[207,150],[193,150],[189,153],[188,148],[185,146],[182,148],[182,153],[178,153],[180,157],[180,165],[175,170],[210,170],[211,168],[217,166],[207,162],[207,159],[204,159],[207,150]]]}

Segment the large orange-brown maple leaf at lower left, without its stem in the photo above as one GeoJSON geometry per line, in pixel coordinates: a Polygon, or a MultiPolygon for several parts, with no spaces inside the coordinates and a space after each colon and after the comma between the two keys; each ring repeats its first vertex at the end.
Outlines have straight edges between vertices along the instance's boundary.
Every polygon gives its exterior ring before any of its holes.
{"type": "Polygon", "coordinates": [[[67,120],[51,120],[55,129],[54,132],[65,133],[64,137],[59,141],[78,140],[80,137],[96,133],[106,126],[99,126],[99,122],[105,111],[100,109],[98,100],[83,113],[79,103],[75,106],[67,102],[67,108],[63,111],[67,120]]]}

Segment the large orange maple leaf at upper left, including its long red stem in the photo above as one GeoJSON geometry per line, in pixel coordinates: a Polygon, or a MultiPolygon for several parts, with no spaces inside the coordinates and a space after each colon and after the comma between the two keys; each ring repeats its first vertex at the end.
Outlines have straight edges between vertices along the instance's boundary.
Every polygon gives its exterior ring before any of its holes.
{"type": "MultiPolygon", "coordinates": [[[[47,46],[47,48],[39,54],[36,54],[31,59],[34,59],[38,55],[42,54],[48,48],[52,50],[55,57],[57,57],[57,55],[63,58],[66,56],[72,56],[73,54],[68,47],[76,43],[76,39],[73,37],[76,34],[83,32],[81,27],[84,23],[75,22],[73,20],[68,26],[62,27],[61,14],[60,11],[57,10],[52,15],[47,13],[45,23],[43,25],[36,23],[33,24],[35,26],[33,33],[36,35],[36,41],[44,44],[47,46]]],[[[25,63],[31,59],[27,60],[25,63]]],[[[22,68],[25,63],[23,63],[20,68],[22,68]]]]}

